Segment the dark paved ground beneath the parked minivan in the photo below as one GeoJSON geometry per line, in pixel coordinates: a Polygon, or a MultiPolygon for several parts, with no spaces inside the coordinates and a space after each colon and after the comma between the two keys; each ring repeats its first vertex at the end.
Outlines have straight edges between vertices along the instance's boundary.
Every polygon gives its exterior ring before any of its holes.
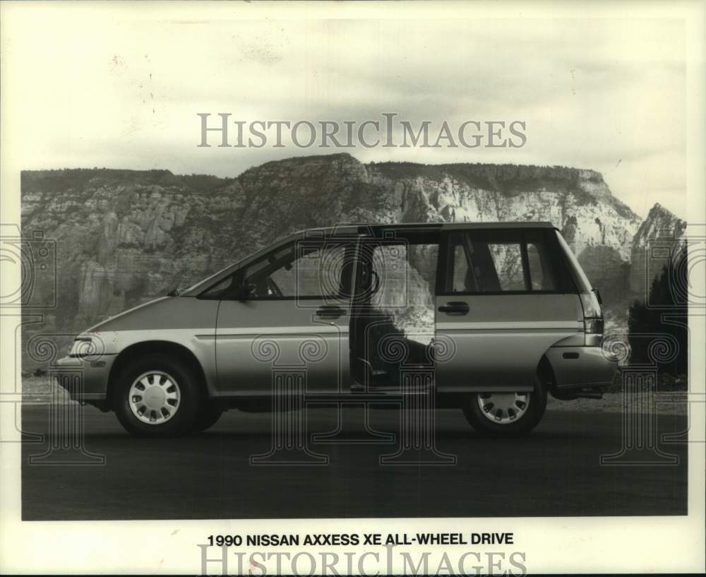
{"type": "MultiPolygon", "coordinates": [[[[23,409],[23,430],[47,435],[47,405],[23,409]]],[[[289,413],[297,415],[298,413],[289,413]]],[[[345,412],[353,420],[360,411],[345,412]]],[[[28,464],[44,443],[23,446],[23,518],[155,519],[276,517],[575,516],[686,513],[686,445],[662,446],[676,465],[600,465],[621,446],[618,413],[548,411],[525,439],[482,439],[458,410],[440,410],[436,443],[455,465],[380,465],[397,443],[311,444],[328,465],[251,465],[272,446],[271,416],[227,412],[208,432],[184,439],[128,436],[114,415],[85,408],[85,448],[104,465],[28,464]]],[[[310,432],[335,428],[333,410],[309,412],[310,432]]],[[[399,413],[372,412],[381,431],[399,413]]],[[[61,427],[66,422],[59,423],[61,427]]],[[[60,427],[60,428],[61,428],[60,427]]],[[[659,415],[660,434],[686,418],[659,415]]],[[[361,429],[357,429],[359,434],[361,429]]],[[[400,439],[400,436],[397,436],[400,439]]],[[[630,453],[649,458],[654,453],[630,453]]],[[[48,461],[76,458],[54,452],[48,461]]],[[[431,455],[433,458],[433,454],[431,455]]],[[[413,453],[412,458],[419,458],[413,453]]],[[[426,455],[429,459],[429,454],[426,455]]],[[[45,461],[46,463],[46,461],[45,461]]]]}

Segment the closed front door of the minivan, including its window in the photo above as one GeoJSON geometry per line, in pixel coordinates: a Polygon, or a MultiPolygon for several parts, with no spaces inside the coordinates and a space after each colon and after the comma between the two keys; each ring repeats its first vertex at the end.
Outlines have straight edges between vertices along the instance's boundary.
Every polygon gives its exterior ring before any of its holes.
{"type": "Polygon", "coordinates": [[[221,395],[268,395],[282,371],[310,392],[349,388],[353,250],[300,237],[233,275],[215,331],[221,395]]]}

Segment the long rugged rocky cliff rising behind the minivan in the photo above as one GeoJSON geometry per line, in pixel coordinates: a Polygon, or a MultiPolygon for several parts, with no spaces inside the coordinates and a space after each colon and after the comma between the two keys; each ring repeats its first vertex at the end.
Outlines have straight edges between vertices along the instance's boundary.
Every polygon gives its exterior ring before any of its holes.
{"type": "Polygon", "coordinates": [[[638,274],[630,272],[631,254],[634,261],[643,241],[669,220],[655,207],[641,223],[591,170],[363,165],[347,154],[268,162],[235,179],[109,169],[24,172],[22,208],[23,235],[41,230],[56,240],[59,305],[42,328],[52,333],[80,331],[189,285],[294,230],[364,221],[549,220],[620,321],[628,275],[632,289],[638,274]]]}

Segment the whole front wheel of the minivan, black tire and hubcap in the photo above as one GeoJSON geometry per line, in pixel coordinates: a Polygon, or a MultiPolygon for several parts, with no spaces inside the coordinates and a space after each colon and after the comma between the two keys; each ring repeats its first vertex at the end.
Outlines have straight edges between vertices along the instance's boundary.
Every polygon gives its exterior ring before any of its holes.
{"type": "Polygon", "coordinates": [[[174,357],[145,355],[121,371],[113,406],[120,424],[130,434],[179,436],[196,422],[200,384],[193,370],[174,357]]]}

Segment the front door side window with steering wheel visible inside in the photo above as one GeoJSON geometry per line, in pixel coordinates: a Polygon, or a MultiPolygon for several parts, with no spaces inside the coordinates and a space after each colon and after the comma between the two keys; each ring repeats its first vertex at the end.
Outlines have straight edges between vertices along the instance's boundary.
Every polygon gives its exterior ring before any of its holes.
{"type": "Polygon", "coordinates": [[[246,268],[250,299],[336,298],[344,294],[348,244],[303,239],[246,268]]]}

